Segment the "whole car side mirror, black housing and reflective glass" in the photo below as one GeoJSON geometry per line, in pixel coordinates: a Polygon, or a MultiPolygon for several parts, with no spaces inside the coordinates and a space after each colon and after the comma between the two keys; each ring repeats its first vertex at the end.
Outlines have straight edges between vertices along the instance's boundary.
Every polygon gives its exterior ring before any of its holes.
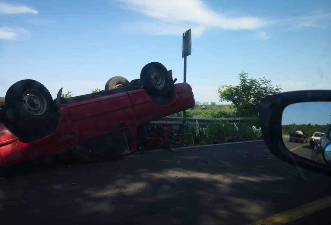
{"type": "Polygon", "coordinates": [[[293,91],[259,103],[269,151],[296,166],[331,175],[331,91],[293,91]]]}

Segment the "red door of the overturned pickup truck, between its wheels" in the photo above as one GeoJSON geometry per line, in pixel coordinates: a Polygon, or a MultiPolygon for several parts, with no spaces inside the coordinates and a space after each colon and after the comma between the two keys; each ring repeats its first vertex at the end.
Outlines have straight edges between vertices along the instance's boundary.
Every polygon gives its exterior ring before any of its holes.
{"type": "MultiPolygon", "coordinates": [[[[71,103],[68,108],[77,144],[96,143],[96,140],[101,143],[103,141],[100,137],[109,141],[112,139],[110,134],[118,136],[118,133],[123,132],[130,141],[130,148],[133,148],[131,143],[132,139],[135,143],[136,123],[126,92],[71,103]]],[[[96,148],[96,145],[92,146],[96,148]]]]}

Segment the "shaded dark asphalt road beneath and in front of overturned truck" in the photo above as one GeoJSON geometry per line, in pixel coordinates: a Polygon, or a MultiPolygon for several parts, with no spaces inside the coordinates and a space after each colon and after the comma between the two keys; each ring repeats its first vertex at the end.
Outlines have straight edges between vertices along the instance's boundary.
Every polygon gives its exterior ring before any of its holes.
{"type": "MultiPolygon", "coordinates": [[[[287,164],[263,141],[24,164],[0,181],[1,224],[248,224],[331,195],[331,177],[287,164]]],[[[330,209],[295,224],[330,224],[330,209]]]]}

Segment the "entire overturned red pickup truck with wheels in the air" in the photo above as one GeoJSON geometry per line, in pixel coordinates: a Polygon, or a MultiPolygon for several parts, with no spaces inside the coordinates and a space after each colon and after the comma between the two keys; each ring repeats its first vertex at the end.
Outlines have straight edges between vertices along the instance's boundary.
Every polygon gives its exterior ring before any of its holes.
{"type": "Polygon", "coordinates": [[[61,88],[55,100],[41,83],[18,81],[0,101],[0,165],[73,148],[96,158],[129,154],[139,126],[194,106],[191,86],[175,80],[153,62],[142,68],[140,79],[116,76],[103,91],[67,99],[61,88]]]}

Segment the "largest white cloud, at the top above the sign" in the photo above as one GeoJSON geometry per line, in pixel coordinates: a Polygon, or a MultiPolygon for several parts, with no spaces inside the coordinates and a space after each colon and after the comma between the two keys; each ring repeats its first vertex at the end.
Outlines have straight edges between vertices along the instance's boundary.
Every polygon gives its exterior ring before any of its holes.
{"type": "Polygon", "coordinates": [[[202,34],[208,28],[253,30],[266,24],[266,21],[258,17],[229,17],[212,10],[201,0],[116,1],[123,3],[126,9],[156,19],[157,23],[141,23],[143,29],[150,30],[154,34],[181,34],[184,29],[191,26],[197,27],[197,34],[202,34]],[[184,25],[177,26],[178,22],[184,25]],[[153,28],[156,28],[157,31],[154,31],[153,28]],[[180,32],[177,31],[179,28],[180,32]]]}

